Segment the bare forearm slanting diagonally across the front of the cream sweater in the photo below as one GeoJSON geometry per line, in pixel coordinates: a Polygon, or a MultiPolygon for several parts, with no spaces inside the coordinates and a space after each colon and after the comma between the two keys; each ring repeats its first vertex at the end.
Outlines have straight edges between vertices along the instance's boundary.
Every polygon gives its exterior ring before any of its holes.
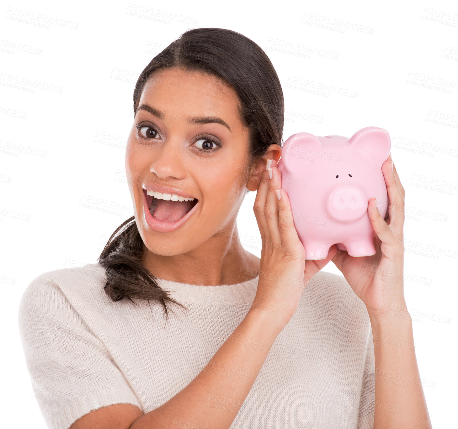
{"type": "Polygon", "coordinates": [[[250,310],[190,384],[130,429],[229,428],[282,329],[272,315],[250,310]]]}

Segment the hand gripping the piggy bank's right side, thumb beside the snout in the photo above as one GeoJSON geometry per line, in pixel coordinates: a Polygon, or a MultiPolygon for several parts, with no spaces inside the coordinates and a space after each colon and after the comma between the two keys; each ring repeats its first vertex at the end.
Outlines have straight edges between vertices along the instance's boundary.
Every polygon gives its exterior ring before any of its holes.
{"type": "Polygon", "coordinates": [[[332,258],[354,293],[364,302],[369,316],[375,317],[382,316],[387,305],[406,308],[403,281],[405,191],[396,167],[392,170],[391,153],[382,164],[382,173],[388,192],[387,215],[382,219],[375,205],[376,198],[369,200],[367,210],[375,231],[376,254],[353,257],[345,251],[337,250],[332,258]]]}

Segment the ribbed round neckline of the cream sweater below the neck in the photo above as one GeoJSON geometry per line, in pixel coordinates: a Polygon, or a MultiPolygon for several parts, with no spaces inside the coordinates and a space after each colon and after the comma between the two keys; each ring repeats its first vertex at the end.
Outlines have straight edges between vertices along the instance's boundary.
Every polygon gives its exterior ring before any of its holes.
{"type": "MultiPolygon", "coordinates": [[[[96,266],[105,277],[105,268],[96,266]]],[[[207,286],[202,284],[180,283],[156,277],[161,289],[169,291],[169,297],[179,302],[224,306],[234,304],[252,304],[256,295],[259,274],[250,280],[235,284],[207,286]]]]}

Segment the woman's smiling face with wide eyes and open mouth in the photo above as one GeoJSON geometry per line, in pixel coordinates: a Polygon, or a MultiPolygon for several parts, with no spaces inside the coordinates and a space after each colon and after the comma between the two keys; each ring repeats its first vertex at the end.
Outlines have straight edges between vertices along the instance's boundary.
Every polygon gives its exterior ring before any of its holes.
{"type": "Polygon", "coordinates": [[[249,170],[238,106],[236,92],[207,74],[161,70],[144,86],[125,167],[138,230],[153,254],[178,255],[206,243],[202,258],[212,259],[227,249],[249,170]],[[144,188],[156,186],[197,199],[184,222],[194,202],[158,201],[152,220],[144,198],[153,198],[144,188]]]}

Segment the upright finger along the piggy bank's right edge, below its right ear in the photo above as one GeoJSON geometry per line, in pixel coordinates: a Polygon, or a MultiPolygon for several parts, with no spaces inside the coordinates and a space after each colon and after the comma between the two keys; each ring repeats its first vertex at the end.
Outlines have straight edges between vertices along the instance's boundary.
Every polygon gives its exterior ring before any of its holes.
{"type": "Polygon", "coordinates": [[[404,198],[396,182],[396,177],[391,168],[391,161],[388,159],[382,165],[383,176],[387,184],[388,192],[388,213],[390,215],[389,227],[398,240],[403,240],[404,228],[404,198]]]}

